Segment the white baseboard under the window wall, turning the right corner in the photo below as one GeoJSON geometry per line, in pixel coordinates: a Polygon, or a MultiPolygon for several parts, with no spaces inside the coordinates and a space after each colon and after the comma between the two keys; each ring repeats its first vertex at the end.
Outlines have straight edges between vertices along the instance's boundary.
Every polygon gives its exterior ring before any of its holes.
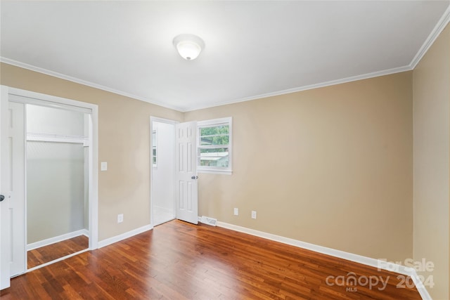
{"type": "Polygon", "coordinates": [[[281,235],[264,233],[263,231],[254,230],[254,229],[250,229],[250,228],[246,228],[246,227],[242,227],[242,226],[237,226],[237,225],[233,225],[233,224],[229,224],[229,223],[225,223],[225,222],[221,222],[221,221],[217,221],[217,226],[226,228],[226,229],[235,230],[240,233],[247,233],[249,235],[255,235],[257,237],[262,237],[266,240],[273,240],[275,242],[281,242],[283,244],[289,244],[291,246],[308,249],[308,250],[311,250],[314,252],[319,252],[321,254],[335,256],[340,259],[346,259],[347,261],[354,261],[356,263],[361,263],[366,266],[371,266],[374,268],[380,268],[383,270],[400,273],[402,275],[411,276],[411,279],[413,280],[414,284],[416,285],[418,292],[419,292],[420,296],[422,297],[422,299],[425,299],[425,300],[430,299],[431,300],[430,294],[428,294],[427,289],[425,288],[423,283],[420,281],[420,278],[418,277],[416,270],[414,268],[409,268],[406,266],[401,266],[396,263],[382,261],[380,259],[372,259],[367,256],[362,256],[362,255],[353,254],[353,253],[349,253],[349,252],[345,252],[345,251],[341,251],[341,250],[337,250],[337,249],[323,247],[323,246],[319,246],[316,244],[310,244],[308,242],[294,240],[289,237],[282,237],[281,235]]]}

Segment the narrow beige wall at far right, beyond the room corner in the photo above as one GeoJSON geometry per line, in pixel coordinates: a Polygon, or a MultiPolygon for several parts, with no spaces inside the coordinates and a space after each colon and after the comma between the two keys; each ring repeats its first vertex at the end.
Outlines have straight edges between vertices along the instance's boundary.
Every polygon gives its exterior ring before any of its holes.
{"type": "Polygon", "coordinates": [[[413,72],[414,260],[435,264],[433,299],[449,299],[450,27],[413,72]]]}

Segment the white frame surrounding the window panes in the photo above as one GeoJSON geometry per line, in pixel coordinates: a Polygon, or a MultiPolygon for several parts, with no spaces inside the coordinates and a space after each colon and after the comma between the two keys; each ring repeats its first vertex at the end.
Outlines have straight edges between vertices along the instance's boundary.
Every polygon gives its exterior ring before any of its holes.
{"type": "Polygon", "coordinates": [[[226,117],[221,119],[210,119],[197,122],[197,171],[198,173],[211,173],[211,174],[227,174],[233,173],[233,118],[226,117]],[[200,145],[200,129],[205,127],[213,127],[220,125],[229,126],[229,145],[228,145],[228,167],[207,167],[200,166],[200,149],[203,148],[200,145]]]}

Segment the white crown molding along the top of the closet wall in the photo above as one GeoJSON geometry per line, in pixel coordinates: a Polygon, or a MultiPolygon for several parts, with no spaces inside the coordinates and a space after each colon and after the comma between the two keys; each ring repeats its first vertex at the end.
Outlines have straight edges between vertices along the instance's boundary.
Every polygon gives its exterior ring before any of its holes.
{"type": "Polygon", "coordinates": [[[150,104],[166,107],[166,108],[169,108],[171,110],[177,110],[179,112],[183,112],[181,107],[176,107],[176,106],[173,106],[173,105],[168,105],[167,103],[162,103],[162,102],[159,102],[159,101],[156,101],[156,100],[150,100],[148,98],[144,98],[144,97],[141,97],[141,96],[136,96],[136,95],[134,95],[132,93],[127,93],[127,92],[124,92],[124,91],[119,91],[117,89],[112,89],[112,88],[110,88],[108,86],[102,86],[101,84],[94,84],[91,81],[86,81],[86,80],[79,79],[79,78],[76,78],[76,77],[71,77],[71,76],[68,76],[68,75],[65,75],[65,74],[61,74],[61,73],[58,73],[58,72],[53,72],[51,70],[46,70],[46,69],[44,69],[42,67],[36,67],[34,65],[29,65],[27,63],[22,63],[22,62],[17,61],[17,60],[12,60],[12,59],[9,59],[9,58],[5,58],[3,56],[0,56],[0,62],[1,63],[6,63],[8,65],[14,65],[15,67],[22,67],[23,69],[31,70],[31,71],[38,72],[38,73],[41,73],[41,74],[46,74],[46,75],[49,75],[49,76],[52,76],[52,77],[56,77],[56,78],[59,78],[59,79],[72,81],[72,82],[75,82],[77,84],[83,84],[84,86],[91,86],[92,88],[95,88],[95,89],[108,91],[110,93],[115,93],[117,95],[125,96],[125,97],[128,97],[128,98],[141,100],[141,101],[146,102],[146,103],[150,103],[150,104]]]}

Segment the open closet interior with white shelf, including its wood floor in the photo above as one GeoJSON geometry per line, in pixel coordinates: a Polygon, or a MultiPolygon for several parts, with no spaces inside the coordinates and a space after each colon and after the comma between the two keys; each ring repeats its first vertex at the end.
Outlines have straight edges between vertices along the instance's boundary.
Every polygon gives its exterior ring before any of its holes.
{"type": "Polygon", "coordinates": [[[25,104],[27,268],[89,248],[89,115],[25,104]]]}

